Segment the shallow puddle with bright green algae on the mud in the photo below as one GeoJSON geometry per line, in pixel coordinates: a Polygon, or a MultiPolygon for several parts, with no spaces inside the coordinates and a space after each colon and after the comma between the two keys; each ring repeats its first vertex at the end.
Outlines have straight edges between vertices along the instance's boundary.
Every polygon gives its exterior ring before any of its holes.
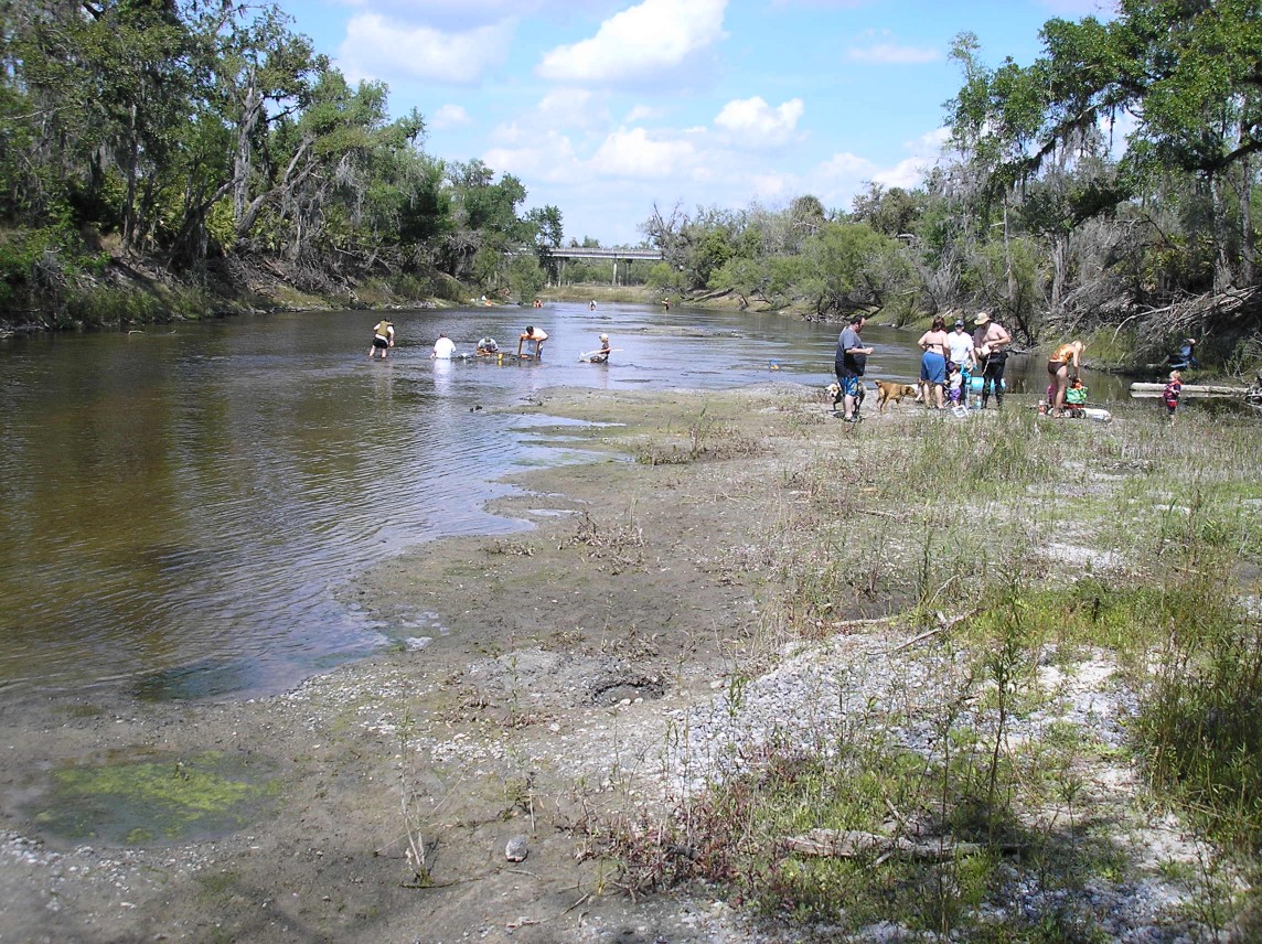
{"type": "Polygon", "coordinates": [[[273,772],[257,757],[220,752],[76,764],[53,771],[32,813],[42,830],[76,842],[204,839],[270,813],[280,793],[273,772]]]}

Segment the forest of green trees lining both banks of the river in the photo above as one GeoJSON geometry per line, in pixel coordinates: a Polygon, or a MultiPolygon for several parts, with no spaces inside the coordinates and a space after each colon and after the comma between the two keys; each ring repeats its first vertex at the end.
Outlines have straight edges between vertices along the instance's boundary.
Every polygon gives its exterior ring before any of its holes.
{"type": "MultiPolygon", "coordinates": [[[[529,299],[568,264],[562,208],[425,119],[351,85],[278,8],[4,0],[0,327],[115,327],[246,309],[529,299]]],[[[955,38],[949,143],[914,188],[848,208],[646,208],[647,293],[893,324],[984,308],[1098,366],[1262,363],[1256,155],[1262,10],[1123,0],[1049,20],[1042,54],[955,38]],[[1002,50],[1000,50],[1002,53],[1002,50]]],[[[572,240],[570,245],[579,245],[572,240]]],[[[582,245],[599,245],[584,237],[582,245]]]]}

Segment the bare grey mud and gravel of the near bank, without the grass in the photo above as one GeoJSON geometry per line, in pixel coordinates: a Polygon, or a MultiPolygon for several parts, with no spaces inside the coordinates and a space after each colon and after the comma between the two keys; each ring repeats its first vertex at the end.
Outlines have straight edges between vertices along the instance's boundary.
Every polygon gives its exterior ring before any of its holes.
{"type": "MultiPolygon", "coordinates": [[[[422,545],[347,589],[380,620],[435,615],[432,639],[266,699],[10,705],[0,941],[838,939],[758,920],[717,886],[641,895],[599,842],[611,822],[666,814],[750,770],[748,748],[770,741],[819,750],[862,722],[931,750],[963,656],[939,645],[941,626],[905,618],[902,589],[856,594],[813,640],[774,627],[777,545],[810,500],[814,451],[859,449],[827,406],[794,385],[545,391],[530,409],[601,425],[592,462],[524,473],[529,491],[497,506],[535,529],[422,545]],[[127,842],[86,808],[76,838],[53,809],[68,795],[57,788],[82,782],[67,771],[239,819],[202,834],[189,817],[127,842]]],[[[940,422],[873,418],[862,448],[940,422]]],[[[900,514],[868,497],[866,520],[900,514]]],[[[1116,669],[1104,650],[1049,652],[1042,707],[1007,736],[1083,732],[1078,806],[1031,822],[1094,820],[1124,864],[1069,891],[1013,859],[1003,902],[983,909],[1070,915],[1116,940],[1199,939],[1196,888],[1174,866],[1195,871],[1208,847],[1148,810],[1118,750],[1135,693],[1116,669]]],[[[846,939],[921,936],[895,921],[846,939]]]]}

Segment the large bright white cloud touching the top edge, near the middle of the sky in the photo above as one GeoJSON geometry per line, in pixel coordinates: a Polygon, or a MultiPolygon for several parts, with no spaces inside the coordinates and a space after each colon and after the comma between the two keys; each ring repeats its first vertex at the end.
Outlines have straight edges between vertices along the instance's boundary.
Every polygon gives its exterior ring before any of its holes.
{"type": "Polygon", "coordinates": [[[535,72],[575,85],[655,78],[722,39],[726,9],[727,0],[644,0],[591,39],[544,53],[535,72]]]}

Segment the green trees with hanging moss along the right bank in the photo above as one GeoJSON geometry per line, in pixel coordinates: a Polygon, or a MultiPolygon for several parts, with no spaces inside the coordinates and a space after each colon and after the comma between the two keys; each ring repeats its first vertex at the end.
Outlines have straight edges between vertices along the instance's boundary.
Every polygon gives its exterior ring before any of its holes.
{"type": "Polygon", "coordinates": [[[655,207],[652,280],[818,318],[984,308],[1026,343],[1094,333],[1119,362],[1184,334],[1262,362],[1262,4],[1122,0],[1040,38],[1030,66],[987,67],[957,37],[949,145],[923,186],[870,184],[848,212],[655,207]]]}

